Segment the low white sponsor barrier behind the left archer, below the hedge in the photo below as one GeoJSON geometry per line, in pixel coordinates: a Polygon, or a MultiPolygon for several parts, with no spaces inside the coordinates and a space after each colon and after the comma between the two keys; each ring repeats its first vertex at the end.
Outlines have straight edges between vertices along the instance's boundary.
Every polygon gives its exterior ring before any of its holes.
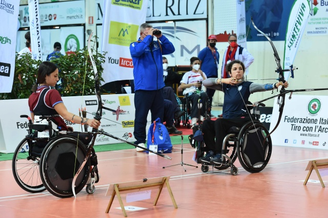
{"type": "MultiPolygon", "coordinates": [[[[100,120],[99,129],[129,142],[134,142],[134,94],[125,95],[101,95],[104,106],[116,110],[120,106],[122,110],[116,120],[116,114],[107,110],[103,110],[103,115],[100,120]]],[[[63,101],[67,110],[78,115],[78,108],[82,105],[86,107],[87,112],[95,114],[98,108],[98,100],[96,96],[76,96],[63,97],[63,101]]],[[[20,118],[20,115],[30,115],[28,99],[1,100],[0,107],[0,152],[12,153],[15,151],[18,143],[28,134],[28,120],[20,118]],[[19,106],[17,106],[19,105],[19,106]],[[10,115],[10,116],[9,116],[10,115]]],[[[87,118],[93,118],[93,115],[87,114],[87,118]]],[[[146,133],[151,124],[151,114],[147,117],[146,133]]],[[[65,121],[67,125],[74,128],[75,131],[81,131],[80,124],[74,124],[70,121],[65,121]]],[[[84,129],[84,128],[83,128],[84,129]]],[[[91,131],[91,127],[88,128],[91,131]]],[[[98,135],[95,145],[121,143],[120,141],[108,136],[98,135]]]]}

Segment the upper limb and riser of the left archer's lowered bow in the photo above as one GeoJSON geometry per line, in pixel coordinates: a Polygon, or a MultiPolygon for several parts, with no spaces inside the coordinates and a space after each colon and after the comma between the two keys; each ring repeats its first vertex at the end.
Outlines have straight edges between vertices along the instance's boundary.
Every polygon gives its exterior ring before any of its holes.
{"type": "MultiPolygon", "coordinates": [[[[89,57],[90,57],[93,72],[94,72],[95,94],[96,94],[97,99],[98,99],[98,109],[97,109],[97,112],[96,112],[96,115],[95,115],[94,119],[100,121],[101,115],[103,114],[103,107],[102,107],[103,104],[101,102],[100,85],[99,85],[99,80],[98,80],[98,71],[97,71],[96,63],[94,61],[94,57],[93,57],[92,51],[91,51],[92,34],[93,34],[93,32],[90,34],[89,39],[88,39],[88,53],[89,53],[89,57]]],[[[92,132],[96,132],[96,131],[97,131],[97,129],[92,128],[92,132]]]]}

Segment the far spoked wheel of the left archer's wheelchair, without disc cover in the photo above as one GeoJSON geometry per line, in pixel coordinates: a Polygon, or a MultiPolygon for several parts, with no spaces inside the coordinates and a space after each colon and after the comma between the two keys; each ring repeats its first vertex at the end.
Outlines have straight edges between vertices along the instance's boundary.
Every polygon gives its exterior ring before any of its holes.
{"type": "Polygon", "coordinates": [[[17,146],[12,159],[12,173],[20,188],[31,193],[46,190],[39,173],[39,157],[29,155],[29,144],[23,139],[17,146]]]}

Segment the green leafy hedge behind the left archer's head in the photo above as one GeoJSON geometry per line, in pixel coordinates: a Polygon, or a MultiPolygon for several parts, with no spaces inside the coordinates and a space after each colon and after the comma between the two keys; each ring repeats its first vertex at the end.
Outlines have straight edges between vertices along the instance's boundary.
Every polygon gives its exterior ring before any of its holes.
{"type": "MultiPolygon", "coordinates": [[[[104,81],[101,77],[101,73],[104,71],[101,63],[105,62],[106,53],[99,53],[93,48],[91,50],[96,63],[98,78],[100,81],[104,81]]],[[[41,62],[32,59],[30,54],[18,56],[16,53],[12,91],[11,93],[0,93],[0,100],[29,98],[41,62]]],[[[74,52],[74,54],[54,58],[51,62],[57,65],[59,77],[64,79],[62,89],[58,90],[62,96],[95,95],[94,71],[87,47],[74,52]]]]}

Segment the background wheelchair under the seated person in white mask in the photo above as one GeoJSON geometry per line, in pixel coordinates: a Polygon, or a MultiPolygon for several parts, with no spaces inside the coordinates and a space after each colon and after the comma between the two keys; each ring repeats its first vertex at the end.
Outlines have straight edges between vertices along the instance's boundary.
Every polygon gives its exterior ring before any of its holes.
{"type": "MultiPolygon", "coordinates": [[[[206,92],[205,92],[206,93],[206,92]]],[[[181,121],[183,126],[187,126],[187,128],[191,127],[190,119],[191,119],[191,107],[192,102],[188,100],[188,93],[182,99],[182,111],[185,111],[185,115],[182,116],[181,121]]],[[[198,124],[200,121],[200,116],[203,115],[204,119],[211,119],[211,107],[210,107],[210,99],[207,96],[207,100],[205,102],[201,101],[201,98],[198,99],[198,124]],[[201,114],[201,108],[205,107],[204,114],[201,114]]]]}

